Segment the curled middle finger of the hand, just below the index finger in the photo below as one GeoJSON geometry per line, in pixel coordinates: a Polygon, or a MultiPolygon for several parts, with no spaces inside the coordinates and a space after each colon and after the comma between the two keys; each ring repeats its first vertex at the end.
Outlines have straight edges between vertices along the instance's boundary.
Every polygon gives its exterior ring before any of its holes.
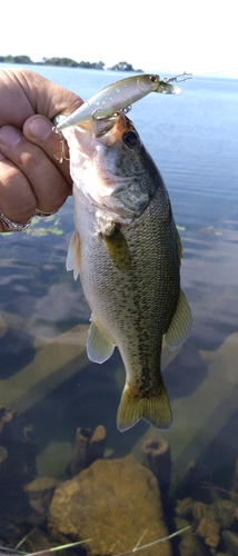
{"type": "MultiPolygon", "coordinates": [[[[0,151],[17,167],[17,171],[24,175],[39,210],[52,212],[63,205],[69,195],[69,185],[42,149],[28,141],[18,129],[3,126],[0,129],[0,151]]],[[[20,187],[14,191],[17,197],[19,190],[20,187]]],[[[22,211],[21,198],[17,205],[22,211]]],[[[16,211],[16,203],[12,211],[16,211]]],[[[28,209],[26,212],[29,219],[32,211],[29,214],[28,209]]]]}

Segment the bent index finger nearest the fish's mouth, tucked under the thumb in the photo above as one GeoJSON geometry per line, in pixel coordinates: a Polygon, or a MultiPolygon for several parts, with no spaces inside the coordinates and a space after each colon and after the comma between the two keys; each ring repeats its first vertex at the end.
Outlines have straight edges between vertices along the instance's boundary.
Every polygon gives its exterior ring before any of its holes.
{"type": "Polygon", "coordinates": [[[53,125],[43,116],[32,116],[23,125],[23,135],[26,139],[38,145],[57,166],[71,188],[71,177],[69,173],[69,149],[67,141],[61,140],[60,136],[53,131],[53,125]],[[61,157],[65,151],[65,157],[61,157]]]}

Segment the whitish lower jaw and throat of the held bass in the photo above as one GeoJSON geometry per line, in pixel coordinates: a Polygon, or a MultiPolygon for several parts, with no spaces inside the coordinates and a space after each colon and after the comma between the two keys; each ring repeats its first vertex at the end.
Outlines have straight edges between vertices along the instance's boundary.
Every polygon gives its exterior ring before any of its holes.
{"type": "Polygon", "coordinates": [[[130,224],[148,205],[147,195],[146,200],[143,198],[141,201],[137,198],[138,191],[135,192],[138,180],[133,166],[129,168],[129,175],[118,166],[127,150],[123,136],[130,130],[136,132],[122,111],[112,117],[92,119],[69,130],[77,139],[77,156],[80,159],[79,168],[71,163],[76,187],[91,206],[121,224],[130,224]]]}

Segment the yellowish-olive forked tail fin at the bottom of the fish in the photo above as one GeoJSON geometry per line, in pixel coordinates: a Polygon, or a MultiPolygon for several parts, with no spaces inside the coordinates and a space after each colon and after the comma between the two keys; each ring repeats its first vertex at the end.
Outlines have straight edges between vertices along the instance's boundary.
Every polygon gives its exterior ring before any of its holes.
{"type": "Polygon", "coordinates": [[[166,430],[172,421],[167,389],[163,383],[156,391],[142,397],[126,384],[117,414],[117,427],[122,433],[146,419],[152,427],[166,430]]]}

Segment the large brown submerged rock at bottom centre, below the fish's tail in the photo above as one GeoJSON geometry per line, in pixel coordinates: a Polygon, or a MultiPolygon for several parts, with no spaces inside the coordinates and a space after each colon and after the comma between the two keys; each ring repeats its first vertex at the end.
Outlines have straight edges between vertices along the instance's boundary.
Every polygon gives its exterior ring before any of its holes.
{"type": "MultiPolygon", "coordinates": [[[[97,459],[88,469],[54,490],[48,526],[60,542],[87,543],[90,556],[132,549],[141,535],[148,544],[168,535],[160,492],[153,474],[130,455],[97,459]]],[[[170,556],[170,543],[152,546],[147,556],[170,556]]]]}

